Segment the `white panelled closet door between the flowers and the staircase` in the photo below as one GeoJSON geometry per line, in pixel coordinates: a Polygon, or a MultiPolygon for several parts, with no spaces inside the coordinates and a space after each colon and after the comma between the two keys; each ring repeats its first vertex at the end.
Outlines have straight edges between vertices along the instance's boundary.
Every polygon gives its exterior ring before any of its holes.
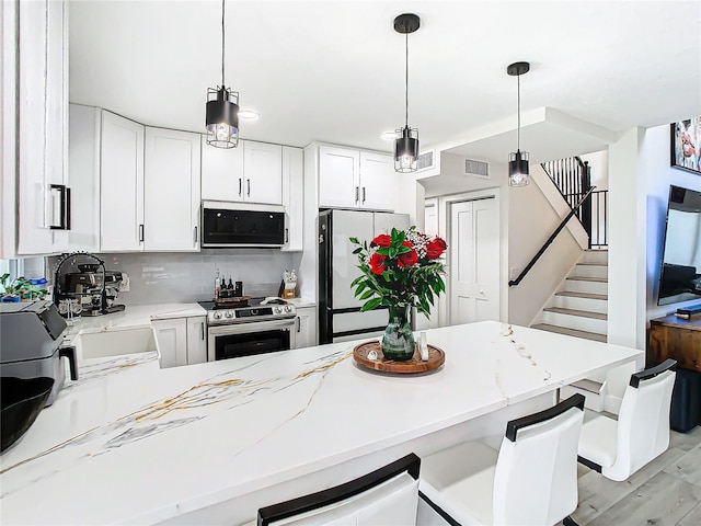
{"type": "Polygon", "coordinates": [[[499,319],[499,213],[494,196],[450,210],[450,324],[499,319]]]}

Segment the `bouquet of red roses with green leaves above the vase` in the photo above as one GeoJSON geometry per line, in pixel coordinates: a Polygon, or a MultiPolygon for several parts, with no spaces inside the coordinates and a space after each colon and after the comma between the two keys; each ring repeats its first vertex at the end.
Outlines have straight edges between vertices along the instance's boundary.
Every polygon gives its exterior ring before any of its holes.
{"type": "Polygon", "coordinates": [[[368,245],[350,238],[358,245],[353,253],[358,256],[358,268],[363,272],[353,281],[356,298],[366,302],[360,308],[367,311],[379,307],[416,307],[426,317],[430,315],[434,296],[446,290],[443,276],[445,266],[439,258],[446,242],[430,239],[416,227],[407,230],[392,229],[375,238],[368,245]]]}

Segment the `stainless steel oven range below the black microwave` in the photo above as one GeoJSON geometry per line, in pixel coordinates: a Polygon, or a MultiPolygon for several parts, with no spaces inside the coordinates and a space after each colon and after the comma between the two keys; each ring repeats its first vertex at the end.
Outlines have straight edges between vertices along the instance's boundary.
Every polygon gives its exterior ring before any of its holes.
{"type": "Polygon", "coordinates": [[[279,298],[251,298],[245,307],[200,301],[207,310],[207,359],[295,348],[297,311],[279,298]]]}

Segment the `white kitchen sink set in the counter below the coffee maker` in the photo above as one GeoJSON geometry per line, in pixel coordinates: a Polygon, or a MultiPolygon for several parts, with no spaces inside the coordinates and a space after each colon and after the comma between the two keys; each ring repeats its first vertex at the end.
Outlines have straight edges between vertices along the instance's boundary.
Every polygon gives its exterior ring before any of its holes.
{"type": "Polygon", "coordinates": [[[79,359],[156,351],[156,339],[149,327],[88,332],[80,334],[73,344],[79,359]]]}

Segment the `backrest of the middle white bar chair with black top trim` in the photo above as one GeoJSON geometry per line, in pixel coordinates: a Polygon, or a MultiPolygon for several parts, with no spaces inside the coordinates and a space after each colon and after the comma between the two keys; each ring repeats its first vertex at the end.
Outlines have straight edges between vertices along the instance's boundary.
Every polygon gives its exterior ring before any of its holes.
{"type": "Polygon", "coordinates": [[[584,397],[508,422],[494,474],[494,524],[553,525],[577,507],[584,397]]]}

